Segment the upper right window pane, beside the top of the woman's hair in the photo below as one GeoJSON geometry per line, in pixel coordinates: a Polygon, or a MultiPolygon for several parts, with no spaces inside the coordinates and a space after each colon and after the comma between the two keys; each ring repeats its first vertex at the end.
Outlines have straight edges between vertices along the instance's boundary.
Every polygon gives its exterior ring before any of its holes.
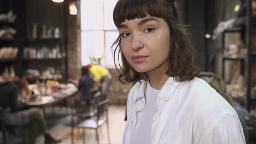
{"type": "Polygon", "coordinates": [[[104,0],[104,29],[116,30],[113,21],[113,10],[118,0],[104,0]]]}

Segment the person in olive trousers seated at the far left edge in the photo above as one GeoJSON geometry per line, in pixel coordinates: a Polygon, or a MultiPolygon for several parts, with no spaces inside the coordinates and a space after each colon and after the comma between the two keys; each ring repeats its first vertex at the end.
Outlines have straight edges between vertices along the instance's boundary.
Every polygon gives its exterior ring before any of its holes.
{"type": "Polygon", "coordinates": [[[21,99],[28,101],[29,97],[23,97],[27,89],[25,80],[11,79],[7,74],[1,77],[0,83],[0,107],[5,111],[5,122],[9,125],[27,125],[29,131],[29,144],[35,144],[39,134],[45,136],[46,144],[59,143],[61,140],[53,138],[46,126],[43,113],[38,108],[25,109],[25,104],[21,99]],[[19,86],[17,86],[15,83],[19,86]]]}

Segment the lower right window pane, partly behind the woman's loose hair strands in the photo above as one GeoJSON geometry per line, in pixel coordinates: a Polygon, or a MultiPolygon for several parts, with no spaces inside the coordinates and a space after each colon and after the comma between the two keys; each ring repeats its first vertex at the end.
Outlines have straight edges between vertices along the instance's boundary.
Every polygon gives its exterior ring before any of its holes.
{"type": "MultiPolygon", "coordinates": [[[[115,50],[116,45],[113,46],[112,51],[111,51],[111,46],[117,39],[118,35],[119,35],[118,32],[106,32],[105,64],[107,67],[115,68],[113,57],[114,57],[114,50],[115,50]]],[[[119,61],[120,61],[120,65],[121,65],[121,56],[120,56],[119,61]]],[[[115,62],[118,65],[118,55],[115,58],[115,62]]],[[[118,66],[118,68],[119,68],[119,66],[118,66]]]]}

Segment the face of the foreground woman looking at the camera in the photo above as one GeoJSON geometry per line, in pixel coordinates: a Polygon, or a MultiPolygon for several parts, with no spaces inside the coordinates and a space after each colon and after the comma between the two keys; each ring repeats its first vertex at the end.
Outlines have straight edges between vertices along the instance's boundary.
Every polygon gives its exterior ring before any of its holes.
{"type": "Polygon", "coordinates": [[[147,16],[125,20],[119,26],[121,49],[137,72],[150,72],[167,65],[170,29],[162,18],[147,16]]]}

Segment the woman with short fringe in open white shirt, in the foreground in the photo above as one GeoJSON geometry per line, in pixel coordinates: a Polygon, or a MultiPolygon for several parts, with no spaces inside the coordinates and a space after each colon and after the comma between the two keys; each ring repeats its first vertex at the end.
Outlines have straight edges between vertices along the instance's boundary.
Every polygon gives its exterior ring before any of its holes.
{"type": "Polygon", "coordinates": [[[119,81],[137,82],[128,95],[123,144],[245,144],[236,111],[196,78],[174,0],[119,0],[113,19],[119,81]]]}

